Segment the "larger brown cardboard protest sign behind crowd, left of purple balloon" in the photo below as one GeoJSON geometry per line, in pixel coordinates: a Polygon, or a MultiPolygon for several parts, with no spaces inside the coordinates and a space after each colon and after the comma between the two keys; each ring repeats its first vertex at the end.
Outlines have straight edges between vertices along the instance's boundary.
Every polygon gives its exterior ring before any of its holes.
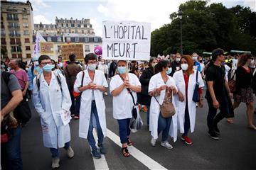
{"type": "Polygon", "coordinates": [[[63,44],[61,45],[61,57],[63,60],[69,60],[69,55],[74,54],[77,60],[84,59],[82,44],[63,44]]]}

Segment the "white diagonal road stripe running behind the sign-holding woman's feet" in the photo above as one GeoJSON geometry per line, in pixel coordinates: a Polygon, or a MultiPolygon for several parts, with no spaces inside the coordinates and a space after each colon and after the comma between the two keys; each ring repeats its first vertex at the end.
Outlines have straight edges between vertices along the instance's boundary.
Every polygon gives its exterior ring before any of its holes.
{"type": "MultiPolygon", "coordinates": [[[[109,129],[107,129],[107,137],[109,137],[110,140],[116,143],[119,147],[122,147],[119,136],[115,135],[114,132],[109,129]]],[[[164,166],[161,166],[161,164],[157,163],[154,159],[151,159],[151,157],[147,156],[134,146],[129,146],[129,153],[149,169],[166,169],[164,166]]]]}

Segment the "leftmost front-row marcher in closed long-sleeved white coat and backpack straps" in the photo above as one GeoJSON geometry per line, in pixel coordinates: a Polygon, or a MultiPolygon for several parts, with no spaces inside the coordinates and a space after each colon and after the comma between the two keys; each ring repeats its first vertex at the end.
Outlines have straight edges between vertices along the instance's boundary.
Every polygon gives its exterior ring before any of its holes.
{"type": "Polygon", "coordinates": [[[74,157],[70,147],[70,116],[71,99],[65,77],[51,71],[54,67],[48,55],[38,59],[42,74],[33,79],[33,103],[41,116],[43,144],[50,147],[53,162],[52,168],[60,166],[58,147],[64,147],[68,157],[74,157]]]}

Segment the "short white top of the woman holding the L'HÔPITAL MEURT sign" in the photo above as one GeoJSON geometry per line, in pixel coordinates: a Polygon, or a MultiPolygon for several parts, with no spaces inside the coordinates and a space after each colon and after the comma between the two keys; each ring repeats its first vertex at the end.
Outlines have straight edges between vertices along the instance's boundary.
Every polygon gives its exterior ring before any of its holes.
{"type": "MultiPolygon", "coordinates": [[[[138,77],[135,74],[128,73],[129,84],[133,86],[141,86],[138,77]]],[[[124,81],[122,81],[119,74],[112,77],[110,81],[110,93],[117,87],[121,86],[124,81]]],[[[134,101],[137,103],[137,94],[135,91],[132,91],[132,95],[134,96],[134,101]]],[[[132,106],[134,103],[132,101],[131,94],[128,93],[127,89],[124,88],[121,93],[117,96],[113,96],[113,117],[114,119],[126,119],[132,118],[132,106]]]]}

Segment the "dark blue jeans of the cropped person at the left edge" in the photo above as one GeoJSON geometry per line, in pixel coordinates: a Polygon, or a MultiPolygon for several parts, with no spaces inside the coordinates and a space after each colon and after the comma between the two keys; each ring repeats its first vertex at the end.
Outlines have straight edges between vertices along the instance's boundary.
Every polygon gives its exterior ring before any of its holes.
{"type": "Polygon", "coordinates": [[[1,143],[2,169],[23,169],[21,159],[21,126],[9,129],[11,138],[6,143],[1,143]]]}

